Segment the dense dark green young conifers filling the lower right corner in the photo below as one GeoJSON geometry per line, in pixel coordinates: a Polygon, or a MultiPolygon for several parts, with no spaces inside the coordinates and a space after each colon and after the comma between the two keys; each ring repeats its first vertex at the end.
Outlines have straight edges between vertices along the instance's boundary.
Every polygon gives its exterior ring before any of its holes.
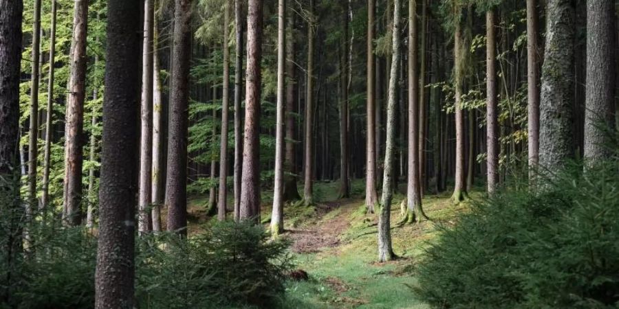
{"type": "Polygon", "coordinates": [[[417,294],[436,308],[616,308],[619,163],[581,170],[502,192],[444,227],[417,294]]]}

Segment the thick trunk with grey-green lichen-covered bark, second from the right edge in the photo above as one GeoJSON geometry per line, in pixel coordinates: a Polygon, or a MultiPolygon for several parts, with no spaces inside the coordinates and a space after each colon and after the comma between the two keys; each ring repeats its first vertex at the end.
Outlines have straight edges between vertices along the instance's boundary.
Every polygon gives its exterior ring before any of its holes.
{"type": "Polygon", "coordinates": [[[541,76],[539,165],[550,173],[574,155],[574,6],[548,0],[546,47],[541,76]]]}

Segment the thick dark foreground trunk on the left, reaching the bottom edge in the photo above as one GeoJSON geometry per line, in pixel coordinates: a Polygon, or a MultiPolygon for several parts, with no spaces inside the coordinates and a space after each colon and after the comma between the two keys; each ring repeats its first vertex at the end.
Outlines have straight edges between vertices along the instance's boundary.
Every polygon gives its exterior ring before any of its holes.
{"type": "Polygon", "coordinates": [[[133,308],[140,117],[139,0],[107,1],[95,308],[133,308]]]}

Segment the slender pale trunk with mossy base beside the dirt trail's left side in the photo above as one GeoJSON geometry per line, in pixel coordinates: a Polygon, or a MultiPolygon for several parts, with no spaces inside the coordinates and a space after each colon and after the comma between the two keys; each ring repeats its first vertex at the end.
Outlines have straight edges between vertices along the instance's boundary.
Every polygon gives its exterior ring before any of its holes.
{"type": "Polygon", "coordinates": [[[285,95],[285,46],[286,46],[286,1],[277,5],[277,106],[275,120],[275,184],[273,188],[273,211],[271,233],[276,237],[283,232],[283,161],[284,161],[284,95],[285,95]]]}

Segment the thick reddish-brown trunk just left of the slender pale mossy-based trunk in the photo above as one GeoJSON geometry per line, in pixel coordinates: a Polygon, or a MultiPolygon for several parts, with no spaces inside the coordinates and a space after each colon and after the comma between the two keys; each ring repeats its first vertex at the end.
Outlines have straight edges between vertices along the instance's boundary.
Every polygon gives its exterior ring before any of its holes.
{"type": "Polygon", "coordinates": [[[249,0],[247,16],[247,76],[245,139],[241,179],[241,220],[260,220],[260,95],[262,76],[262,0],[249,0]]]}

